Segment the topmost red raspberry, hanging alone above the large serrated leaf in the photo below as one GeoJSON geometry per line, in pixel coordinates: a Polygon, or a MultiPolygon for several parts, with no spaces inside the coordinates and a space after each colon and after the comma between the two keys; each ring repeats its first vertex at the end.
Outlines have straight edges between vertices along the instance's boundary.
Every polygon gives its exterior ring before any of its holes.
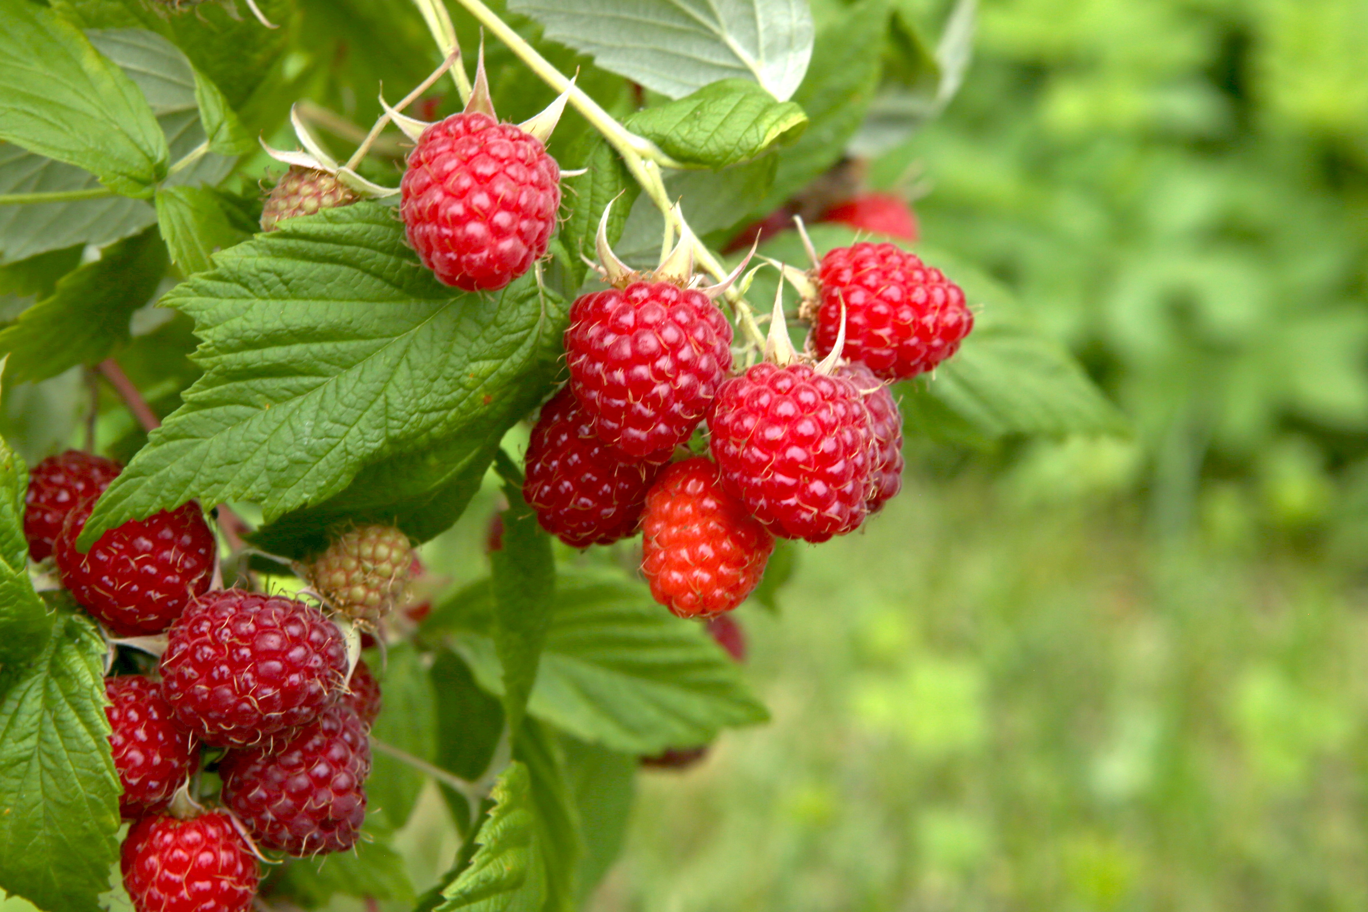
{"type": "Polygon", "coordinates": [[[477,111],[434,123],[409,153],[399,213],[438,282],[492,291],[546,253],[561,170],[539,139],[477,111]]]}

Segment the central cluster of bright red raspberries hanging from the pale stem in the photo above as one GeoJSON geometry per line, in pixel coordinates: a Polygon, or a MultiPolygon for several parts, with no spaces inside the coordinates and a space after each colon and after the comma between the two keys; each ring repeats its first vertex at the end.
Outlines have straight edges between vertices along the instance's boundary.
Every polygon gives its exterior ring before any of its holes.
{"type": "Polygon", "coordinates": [[[959,287],[914,254],[839,247],[811,276],[818,299],[803,306],[824,361],[776,347],[731,373],[718,290],[676,275],[676,254],[654,273],[631,272],[602,232],[613,287],[570,305],[569,383],[532,428],[523,494],[572,547],[642,531],[655,600],[715,618],[759,584],[774,536],[847,535],[899,492],[903,420],[886,383],[953,354],[973,314],[959,287]],[[698,443],[662,470],[700,428],[710,458],[698,443]]]}

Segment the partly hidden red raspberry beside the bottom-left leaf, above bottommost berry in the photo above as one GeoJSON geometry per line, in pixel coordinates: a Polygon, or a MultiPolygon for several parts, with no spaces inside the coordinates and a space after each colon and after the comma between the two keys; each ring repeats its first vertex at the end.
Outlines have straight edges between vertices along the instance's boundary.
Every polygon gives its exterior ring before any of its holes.
{"type": "Polygon", "coordinates": [[[200,751],[193,737],[171,723],[171,707],[156,682],[141,674],[107,678],[104,693],[114,768],[123,786],[119,814],[134,820],[167,805],[200,767],[200,751]]]}

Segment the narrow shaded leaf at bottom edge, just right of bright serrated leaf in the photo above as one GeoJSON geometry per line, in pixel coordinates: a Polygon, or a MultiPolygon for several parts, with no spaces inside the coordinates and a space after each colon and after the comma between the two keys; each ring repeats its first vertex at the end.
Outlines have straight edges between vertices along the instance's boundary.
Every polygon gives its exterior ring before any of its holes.
{"type": "Polygon", "coordinates": [[[565,778],[565,756],[555,734],[527,719],[513,744],[513,757],[527,764],[532,781],[536,837],[546,863],[546,909],[575,912],[577,875],[584,856],[579,807],[565,778]]]}

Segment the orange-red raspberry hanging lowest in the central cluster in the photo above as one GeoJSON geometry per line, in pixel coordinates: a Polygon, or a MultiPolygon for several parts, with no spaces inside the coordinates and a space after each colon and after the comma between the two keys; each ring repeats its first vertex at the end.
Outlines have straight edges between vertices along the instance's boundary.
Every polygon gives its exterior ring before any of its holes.
{"type": "Polygon", "coordinates": [[[676,462],[646,495],[642,573],[655,600],[681,618],[739,606],[773,550],[774,536],[722,491],[710,459],[676,462]]]}

